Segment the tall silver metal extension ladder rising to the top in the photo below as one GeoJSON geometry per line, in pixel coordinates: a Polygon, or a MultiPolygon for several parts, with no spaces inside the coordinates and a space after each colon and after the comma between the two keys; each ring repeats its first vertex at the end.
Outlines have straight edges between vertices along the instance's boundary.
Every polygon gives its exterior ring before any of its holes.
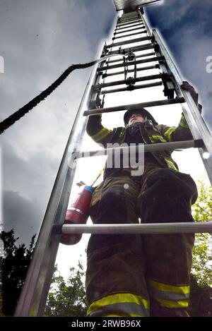
{"type": "MultiPolygon", "coordinates": [[[[181,104],[182,112],[194,140],[144,145],[144,150],[198,148],[208,178],[212,183],[211,133],[190,93],[180,88],[183,81],[182,76],[172,61],[163,40],[156,30],[151,32],[144,17],[143,7],[158,3],[158,1],[160,0],[114,0],[116,10],[124,12],[120,17],[117,15],[112,43],[102,46],[100,58],[104,59],[93,67],[86,90],[83,93],[49,198],[33,259],[16,309],[16,316],[43,315],[61,233],[212,232],[212,222],[202,224],[93,224],[89,226],[64,224],[77,160],[88,155],[88,152],[80,152],[88,116],[94,114],[119,112],[127,109],[138,109],[139,107],[181,104]],[[131,39],[127,39],[129,37],[131,39]],[[105,56],[108,56],[109,60],[105,59],[105,56]],[[144,66],[139,66],[140,64],[144,64],[144,66]],[[118,71],[112,71],[117,68],[118,71]],[[145,71],[155,68],[160,69],[161,72],[145,76],[145,71]],[[138,73],[144,74],[137,77],[138,73]],[[127,78],[129,74],[134,77],[127,78]],[[116,76],[118,75],[122,75],[123,79],[117,80],[116,76]],[[113,76],[113,81],[105,83],[105,79],[113,76]],[[157,81],[155,82],[155,80],[157,81]],[[119,85],[122,86],[119,87],[119,85]],[[132,90],[155,88],[159,85],[164,87],[165,99],[163,100],[104,107],[105,95],[124,91],[129,93],[132,90]],[[109,87],[112,89],[108,90],[109,87]]],[[[96,155],[97,152],[107,155],[107,150],[97,150],[90,152],[90,157],[96,155]]]]}

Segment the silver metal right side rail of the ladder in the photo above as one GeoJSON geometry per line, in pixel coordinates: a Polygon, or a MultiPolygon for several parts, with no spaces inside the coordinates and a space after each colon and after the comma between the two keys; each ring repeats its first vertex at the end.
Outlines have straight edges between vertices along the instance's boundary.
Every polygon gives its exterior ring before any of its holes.
{"type": "MultiPolygon", "coordinates": [[[[212,136],[211,133],[206,126],[204,119],[199,113],[199,109],[196,106],[192,95],[186,90],[183,90],[180,86],[182,85],[183,79],[181,74],[179,73],[177,66],[172,61],[170,54],[168,54],[165,44],[161,40],[158,32],[153,30],[153,37],[155,37],[155,41],[158,43],[160,47],[160,51],[163,56],[165,56],[165,60],[167,66],[170,68],[172,72],[173,78],[175,78],[175,82],[177,83],[178,93],[183,95],[185,102],[187,103],[187,107],[182,107],[184,116],[187,120],[187,124],[192,132],[192,136],[194,139],[201,138],[204,141],[204,148],[199,149],[199,153],[201,155],[201,159],[204,162],[204,166],[206,168],[206,172],[208,174],[208,178],[212,183],[212,136]],[[186,111],[185,111],[186,109],[186,111]],[[208,152],[208,159],[204,159],[203,152],[208,152]]],[[[179,96],[179,95],[178,95],[179,96]]]]}

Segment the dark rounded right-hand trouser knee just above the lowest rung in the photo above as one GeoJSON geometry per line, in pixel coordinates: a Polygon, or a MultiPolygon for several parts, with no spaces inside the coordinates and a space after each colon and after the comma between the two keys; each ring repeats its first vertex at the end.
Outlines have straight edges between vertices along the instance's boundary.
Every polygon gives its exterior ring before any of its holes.
{"type": "Polygon", "coordinates": [[[193,191],[170,169],[159,169],[147,180],[141,198],[142,222],[189,222],[193,191]]]}

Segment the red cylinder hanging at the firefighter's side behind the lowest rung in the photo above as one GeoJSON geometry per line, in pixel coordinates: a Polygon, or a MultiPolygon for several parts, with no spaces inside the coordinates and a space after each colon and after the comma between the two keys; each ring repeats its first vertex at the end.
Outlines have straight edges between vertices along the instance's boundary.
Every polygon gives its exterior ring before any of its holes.
{"type": "MultiPolygon", "coordinates": [[[[86,224],[93,191],[94,188],[91,186],[81,186],[76,200],[71,203],[66,211],[64,224],[86,224]]],[[[82,234],[62,234],[60,242],[65,245],[74,245],[78,243],[81,238],[82,234]]]]}

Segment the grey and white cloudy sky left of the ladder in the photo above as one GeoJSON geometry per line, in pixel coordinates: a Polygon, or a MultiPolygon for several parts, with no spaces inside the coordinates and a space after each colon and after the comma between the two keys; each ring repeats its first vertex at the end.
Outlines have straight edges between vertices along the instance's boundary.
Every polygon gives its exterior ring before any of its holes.
{"type": "MultiPolygon", "coordinates": [[[[47,88],[71,64],[95,59],[114,19],[113,9],[112,2],[99,0],[91,4],[2,1],[0,55],[4,56],[5,73],[0,82],[1,120],[47,88]]],[[[47,100],[1,136],[6,229],[11,226],[11,205],[16,205],[18,215],[22,210],[29,214],[25,208],[30,205],[33,231],[39,229],[89,75],[90,68],[72,73],[47,100]]],[[[20,218],[18,236],[28,224],[28,217],[20,218]]]]}

